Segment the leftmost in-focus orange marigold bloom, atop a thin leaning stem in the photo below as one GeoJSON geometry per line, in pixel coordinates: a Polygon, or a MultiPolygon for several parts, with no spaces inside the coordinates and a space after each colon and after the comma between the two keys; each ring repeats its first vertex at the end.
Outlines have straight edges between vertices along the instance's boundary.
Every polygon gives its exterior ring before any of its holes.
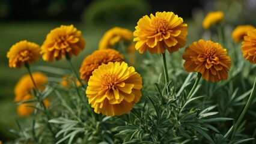
{"type": "Polygon", "coordinates": [[[7,53],[9,67],[20,68],[23,63],[35,62],[40,58],[40,46],[38,44],[23,40],[11,46],[7,53]]]}

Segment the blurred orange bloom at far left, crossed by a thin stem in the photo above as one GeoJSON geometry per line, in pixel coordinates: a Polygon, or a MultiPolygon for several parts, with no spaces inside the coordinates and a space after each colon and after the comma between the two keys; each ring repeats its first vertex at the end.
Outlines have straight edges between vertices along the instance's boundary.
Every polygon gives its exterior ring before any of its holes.
{"type": "MultiPolygon", "coordinates": [[[[43,90],[43,85],[47,83],[47,76],[43,73],[34,72],[32,73],[32,77],[34,78],[37,88],[43,90]]],[[[22,76],[14,87],[14,101],[22,101],[26,95],[31,94],[32,88],[34,88],[34,84],[29,74],[22,76]]]]}

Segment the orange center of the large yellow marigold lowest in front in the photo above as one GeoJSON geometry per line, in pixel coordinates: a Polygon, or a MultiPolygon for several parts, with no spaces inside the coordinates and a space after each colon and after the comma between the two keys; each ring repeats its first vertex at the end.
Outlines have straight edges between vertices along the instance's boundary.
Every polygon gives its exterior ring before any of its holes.
{"type": "Polygon", "coordinates": [[[102,76],[102,89],[114,89],[115,85],[117,85],[117,76],[111,73],[106,73],[102,76]]]}

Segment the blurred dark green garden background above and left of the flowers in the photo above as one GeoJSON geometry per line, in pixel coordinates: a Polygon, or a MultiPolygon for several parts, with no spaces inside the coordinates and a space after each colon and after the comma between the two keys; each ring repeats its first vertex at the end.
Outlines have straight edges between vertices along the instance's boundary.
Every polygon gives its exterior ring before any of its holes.
{"type": "MultiPolygon", "coordinates": [[[[256,26],[255,0],[1,0],[0,1],[0,140],[7,142],[15,137],[7,128],[17,129],[16,121],[24,121],[16,113],[13,88],[25,67],[8,67],[6,54],[20,40],[43,44],[51,29],[60,25],[75,25],[87,41],[85,50],[72,58],[79,70],[82,59],[97,49],[105,31],[114,26],[135,30],[136,22],[156,11],[173,11],[188,23],[187,44],[207,37],[201,23],[209,11],[225,13],[227,34],[237,25],[256,26]]],[[[41,59],[32,67],[68,68],[65,59],[44,62],[41,59]]]]}

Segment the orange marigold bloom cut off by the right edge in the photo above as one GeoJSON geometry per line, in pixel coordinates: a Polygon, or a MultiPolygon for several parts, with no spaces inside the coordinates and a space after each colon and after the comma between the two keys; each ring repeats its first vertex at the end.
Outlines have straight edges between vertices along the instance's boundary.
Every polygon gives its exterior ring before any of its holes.
{"type": "Polygon", "coordinates": [[[256,29],[249,31],[248,35],[245,36],[242,43],[242,52],[246,60],[256,64],[256,29]]]}

